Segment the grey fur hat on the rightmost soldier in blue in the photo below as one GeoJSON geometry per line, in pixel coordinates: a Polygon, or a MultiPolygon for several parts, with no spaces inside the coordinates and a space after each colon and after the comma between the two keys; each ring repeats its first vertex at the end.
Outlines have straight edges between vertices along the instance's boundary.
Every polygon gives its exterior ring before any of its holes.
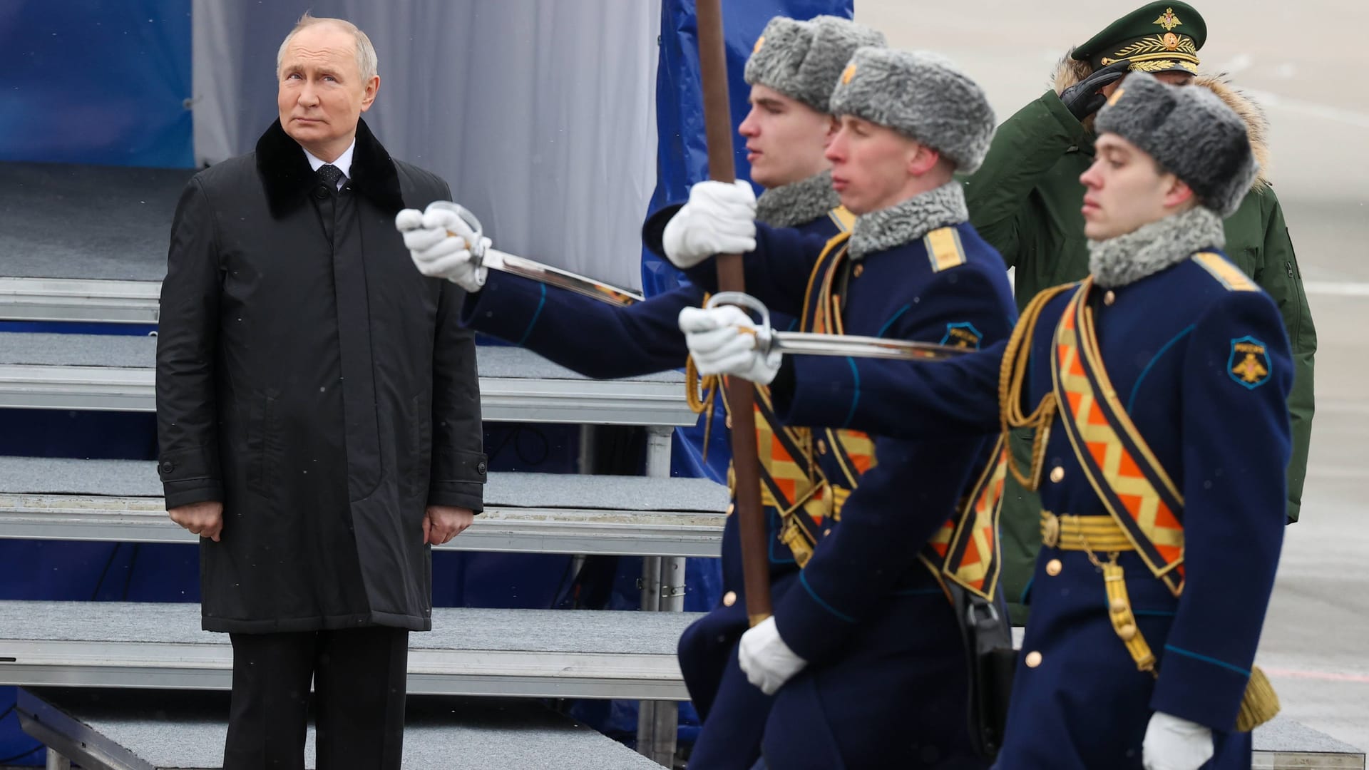
{"type": "Polygon", "coordinates": [[[1221,216],[1236,212],[1259,170],[1246,122],[1206,88],[1131,73],[1094,125],[1099,134],[1117,134],[1143,149],[1221,216]]]}

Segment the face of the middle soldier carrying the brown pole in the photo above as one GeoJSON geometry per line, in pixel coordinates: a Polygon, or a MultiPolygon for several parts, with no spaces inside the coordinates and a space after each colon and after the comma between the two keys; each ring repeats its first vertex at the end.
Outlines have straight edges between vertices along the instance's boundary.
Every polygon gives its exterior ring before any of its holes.
{"type": "Polygon", "coordinates": [[[905,200],[919,147],[894,129],[842,115],[841,127],[827,145],[832,188],[842,206],[858,215],[905,200]]]}

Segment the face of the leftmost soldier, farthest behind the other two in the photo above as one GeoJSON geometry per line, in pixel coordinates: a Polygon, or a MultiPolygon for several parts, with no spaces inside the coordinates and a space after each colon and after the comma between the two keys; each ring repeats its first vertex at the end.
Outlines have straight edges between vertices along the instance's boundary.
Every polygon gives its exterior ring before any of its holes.
{"type": "Polygon", "coordinates": [[[752,86],[752,111],[738,127],[746,137],[752,181],[778,188],[827,170],[823,148],[832,118],[764,85],[752,86]]]}

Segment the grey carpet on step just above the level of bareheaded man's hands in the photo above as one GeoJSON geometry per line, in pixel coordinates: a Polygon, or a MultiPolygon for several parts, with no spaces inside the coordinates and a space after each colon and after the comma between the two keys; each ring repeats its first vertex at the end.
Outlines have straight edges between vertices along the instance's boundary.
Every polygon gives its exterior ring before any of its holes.
{"type": "MultiPolygon", "coordinates": [[[[0,456],[0,493],[160,497],[151,460],[0,456]]],[[[511,508],[721,512],[727,488],[706,478],[493,473],[485,504],[511,508]]]]}

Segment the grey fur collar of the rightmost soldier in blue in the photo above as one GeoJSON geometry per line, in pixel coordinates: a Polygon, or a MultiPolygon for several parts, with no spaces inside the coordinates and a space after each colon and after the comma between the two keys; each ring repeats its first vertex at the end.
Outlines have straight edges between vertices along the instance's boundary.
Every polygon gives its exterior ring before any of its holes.
{"type": "Polygon", "coordinates": [[[1088,241],[1088,271],[1103,288],[1125,286],[1179,264],[1194,252],[1227,245],[1221,216],[1195,206],[1106,241],[1088,241]]]}

